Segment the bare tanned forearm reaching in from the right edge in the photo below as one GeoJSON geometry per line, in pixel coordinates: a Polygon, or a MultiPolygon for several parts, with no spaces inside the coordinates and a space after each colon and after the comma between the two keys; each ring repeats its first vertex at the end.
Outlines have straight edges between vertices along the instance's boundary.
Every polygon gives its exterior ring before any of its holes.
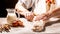
{"type": "Polygon", "coordinates": [[[60,17],[60,8],[56,8],[52,11],[48,11],[44,14],[44,16],[42,17],[42,20],[49,20],[51,17],[60,17]]]}

